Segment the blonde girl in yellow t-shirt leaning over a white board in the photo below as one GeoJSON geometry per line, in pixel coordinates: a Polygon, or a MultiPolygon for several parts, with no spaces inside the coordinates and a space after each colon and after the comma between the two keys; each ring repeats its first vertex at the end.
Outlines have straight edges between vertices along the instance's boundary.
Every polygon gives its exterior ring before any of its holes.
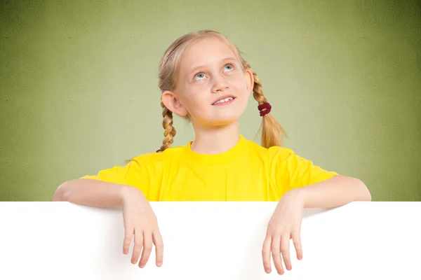
{"type": "MultiPolygon", "coordinates": [[[[283,148],[281,126],[257,74],[238,48],[215,31],[178,38],[159,64],[163,145],[95,176],[63,183],[55,201],[94,207],[121,206],[125,227],[123,253],[134,236],[131,262],[145,267],[156,247],[156,265],[163,260],[163,241],[149,202],[267,201],[278,202],[267,227],[262,259],[267,273],[271,256],[279,274],[290,270],[289,242],[302,258],[300,226],[305,208],[338,207],[371,200],[358,179],[328,172],[283,148]],[[262,118],[262,146],[239,134],[239,118],[251,92],[262,118]],[[171,147],[173,113],[188,118],[194,141],[171,147]],[[282,263],[283,260],[283,263],[282,263]]],[[[257,112],[258,113],[258,112],[257,112]]]]}

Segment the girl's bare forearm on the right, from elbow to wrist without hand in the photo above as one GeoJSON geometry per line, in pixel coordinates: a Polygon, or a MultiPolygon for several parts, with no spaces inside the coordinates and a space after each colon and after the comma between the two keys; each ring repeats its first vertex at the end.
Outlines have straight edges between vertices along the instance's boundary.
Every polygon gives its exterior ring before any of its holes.
{"type": "Polygon", "coordinates": [[[371,200],[366,185],[347,176],[334,176],[295,190],[300,192],[305,208],[339,207],[349,202],[371,200]]]}

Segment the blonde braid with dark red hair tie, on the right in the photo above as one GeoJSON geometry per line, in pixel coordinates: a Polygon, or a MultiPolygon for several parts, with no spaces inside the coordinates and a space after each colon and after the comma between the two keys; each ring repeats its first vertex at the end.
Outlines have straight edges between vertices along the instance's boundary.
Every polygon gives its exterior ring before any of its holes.
{"type": "MultiPolygon", "coordinates": [[[[251,70],[250,64],[246,60],[244,60],[244,66],[246,69],[251,70]]],[[[267,102],[267,99],[263,94],[262,83],[258,78],[258,74],[253,70],[251,71],[253,72],[254,78],[253,97],[259,105],[262,105],[267,102]]],[[[271,113],[267,113],[265,116],[262,116],[262,125],[260,126],[260,130],[262,131],[263,147],[270,148],[272,146],[283,146],[282,137],[286,136],[286,132],[271,113]]]]}

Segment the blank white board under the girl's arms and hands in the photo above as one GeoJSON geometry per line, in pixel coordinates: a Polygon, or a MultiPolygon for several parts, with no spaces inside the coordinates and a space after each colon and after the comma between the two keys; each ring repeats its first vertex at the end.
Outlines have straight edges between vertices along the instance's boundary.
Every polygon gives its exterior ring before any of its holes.
{"type": "MultiPolygon", "coordinates": [[[[163,266],[123,255],[120,209],[0,202],[0,279],[421,279],[421,202],[308,209],[303,259],[266,274],[262,242],[276,203],[154,202],[163,266]]],[[[133,248],[133,244],[131,249],[133,248]]]]}

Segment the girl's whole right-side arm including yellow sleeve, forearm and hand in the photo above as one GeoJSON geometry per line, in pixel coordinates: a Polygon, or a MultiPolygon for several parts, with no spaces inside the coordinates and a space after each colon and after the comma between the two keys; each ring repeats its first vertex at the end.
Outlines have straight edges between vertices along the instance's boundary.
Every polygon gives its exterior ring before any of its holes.
{"type": "Polygon", "coordinates": [[[263,243],[263,265],[272,271],[271,256],[279,274],[292,269],[290,239],[293,239],[298,260],[302,259],[301,223],[305,208],[333,208],[353,201],[370,201],[366,185],[359,179],[328,172],[295,155],[288,148],[274,148],[272,174],[282,194],[267,226],[263,243]],[[282,258],[281,258],[282,257],[282,258]]]}

